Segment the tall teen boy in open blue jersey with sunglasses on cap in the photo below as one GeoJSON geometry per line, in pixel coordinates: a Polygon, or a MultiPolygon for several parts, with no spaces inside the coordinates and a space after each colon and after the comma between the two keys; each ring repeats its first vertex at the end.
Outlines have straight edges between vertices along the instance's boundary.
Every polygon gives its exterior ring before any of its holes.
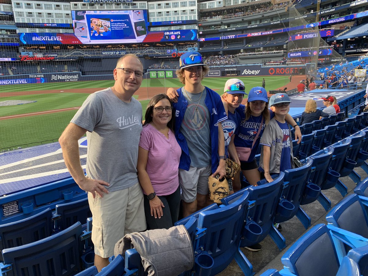
{"type": "Polygon", "coordinates": [[[175,136],[182,150],[179,183],[184,217],[206,206],[208,177],[225,176],[221,122],[227,116],[219,94],[201,83],[207,72],[200,53],[187,52],[180,57],[176,74],[184,86],[176,91],[173,106],[175,136]]]}

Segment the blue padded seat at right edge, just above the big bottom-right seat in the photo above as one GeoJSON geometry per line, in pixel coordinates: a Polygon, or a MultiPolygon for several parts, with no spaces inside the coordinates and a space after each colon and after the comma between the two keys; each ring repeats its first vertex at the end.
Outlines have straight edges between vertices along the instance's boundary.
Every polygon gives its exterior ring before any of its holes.
{"type": "Polygon", "coordinates": [[[368,238],[368,198],[351,194],[326,215],[329,224],[368,238]]]}

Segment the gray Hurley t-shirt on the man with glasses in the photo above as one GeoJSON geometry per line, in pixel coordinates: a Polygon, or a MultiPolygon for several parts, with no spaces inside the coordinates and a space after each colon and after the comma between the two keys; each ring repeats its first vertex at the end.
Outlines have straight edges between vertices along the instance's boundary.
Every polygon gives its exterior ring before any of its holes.
{"type": "Polygon", "coordinates": [[[87,132],[87,176],[110,184],[110,192],[138,183],[142,105],[120,100],[107,88],[88,96],[71,123],[87,132]]]}

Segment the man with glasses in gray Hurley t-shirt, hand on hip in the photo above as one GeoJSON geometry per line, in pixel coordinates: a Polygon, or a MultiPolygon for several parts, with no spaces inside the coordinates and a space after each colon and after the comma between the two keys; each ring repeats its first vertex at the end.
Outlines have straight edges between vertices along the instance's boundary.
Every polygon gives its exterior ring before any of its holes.
{"type": "Polygon", "coordinates": [[[114,69],[114,86],[91,94],[59,139],[71,176],[88,192],[95,266],[99,271],[109,264],[114,245],[124,234],[146,229],[136,169],[142,106],[132,98],[142,77],[143,66],[137,56],[121,57],[114,69]],[[78,139],[85,133],[87,176],[78,148],[78,139]]]}

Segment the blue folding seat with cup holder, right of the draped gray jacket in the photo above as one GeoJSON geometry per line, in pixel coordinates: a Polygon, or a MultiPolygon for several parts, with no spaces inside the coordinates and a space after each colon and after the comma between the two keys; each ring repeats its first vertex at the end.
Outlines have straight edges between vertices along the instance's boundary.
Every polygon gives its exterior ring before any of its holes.
{"type": "Polygon", "coordinates": [[[239,248],[249,196],[247,191],[243,191],[243,194],[229,205],[215,210],[203,211],[199,214],[197,227],[202,235],[199,234],[200,237],[195,248],[197,261],[194,270],[197,273],[201,269],[206,271],[199,261],[199,255],[206,254],[213,259],[210,275],[221,272],[234,257],[243,273],[251,275],[252,265],[239,248]],[[206,229],[205,233],[201,229],[206,229]]]}

